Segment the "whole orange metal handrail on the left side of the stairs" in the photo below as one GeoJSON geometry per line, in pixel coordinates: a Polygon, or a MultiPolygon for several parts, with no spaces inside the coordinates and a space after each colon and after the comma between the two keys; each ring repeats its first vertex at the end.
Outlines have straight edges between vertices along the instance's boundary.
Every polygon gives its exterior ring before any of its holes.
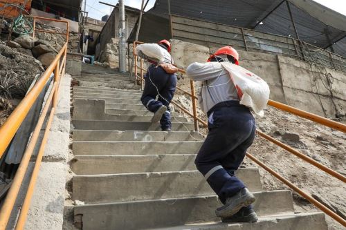
{"type": "MultiPolygon", "coordinates": [[[[35,186],[37,173],[39,171],[39,165],[42,162],[44,147],[48,139],[48,133],[51,127],[51,122],[53,120],[55,108],[57,106],[57,98],[58,98],[57,93],[58,93],[58,88],[60,84],[60,79],[62,75],[64,75],[65,68],[66,68],[66,54],[67,54],[67,46],[69,42],[69,22],[57,20],[57,19],[46,19],[43,17],[34,17],[34,20],[33,20],[34,30],[35,30],[36,19],[43,19],[47,21],[59,21],[62,23],[66,23],[66,43],[64,44],[60,52],[57,54],[55,59],[52,61],[51,65],[42,74],[39,81],[37,81],[35,86],[33,86],[30,92],[28,92],[26,97],[22,99],[21,103],[19,103],[17,108],[15,108],[15,111],[13,111],[10,117],[6,119],[6,122],[3,124],[3,126],[0,127],[0,137],[1,137],[0,157],[1,157],[3,153],[6,151],[6,148],[8,148],[8,145],[10,144],[12,138],[15,136],[15,133],[17,132],[19,126],[21,126],[21,123],[24,121],[26,115],[28,114],[28,111],[30,111],[30,108],[32,108],[33,104],[35,103],[38,95],[42,93],[43,88],[46,86],[48,79],[51,77],[54,71],[54,81],[53,81],[53,87],[51,88],[51,93],[48,96],[48,99],[46,99],[46,103],[44,105],[41,115],[39,116],[39,120],[37,122],[37,125],[35,126],[33,135],[30,138],[30,142],[28,143],[28,146],[26,147],[26,151],[24,152],[21,163],[19,164],[19,168],[17,170],[15,178],[12,181],[10,190],[8,191],[8,194],[6,195],[6,199],[3,202],[3,206],[1,207],[0,229],[6,229],[8,220],[10,218],[10,215],[14,208],[15,201],[19,193],[19,189],[23,182],[24,175],[26,174],[26,170],[28,169],[30,158],[33,155],[35,145],[37,144],[39,132],[41,131],[42,126],[44,124],[46,114],[48,113],[48,110],[51,107],[51,112],[48,118],[48,122],[46,123],[46,130],[44,132],[42,144],[39,148],[39,153],[37,155],[37,160],[35,162],[35,168],[34,168],[33,174],[31,175],[28,191],[26,193],[24,204],[22,206],[21,213],[19,215],[16,230],[24,228],[26,215],[28,213],[28,209],[30,206],[30,200],[33,195],[33,189],[35,186]]],[[[33,34],[33,36],[35,36],[35,34],[33,34]]]]}

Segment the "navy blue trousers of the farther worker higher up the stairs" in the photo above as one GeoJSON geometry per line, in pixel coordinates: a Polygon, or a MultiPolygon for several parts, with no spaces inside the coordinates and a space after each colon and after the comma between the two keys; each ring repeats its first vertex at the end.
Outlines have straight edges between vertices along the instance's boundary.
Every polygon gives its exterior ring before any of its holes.
{"type": "Polygon", "coordinates": [[[155,113],[162,105],[167,106],[160,124],[162,129],[172,128],[169,105],[176,90],[176,75],[167,74],[160,66],[151,65],[144,79],[145,86],[140,101],[152,113],[155,113]]]}

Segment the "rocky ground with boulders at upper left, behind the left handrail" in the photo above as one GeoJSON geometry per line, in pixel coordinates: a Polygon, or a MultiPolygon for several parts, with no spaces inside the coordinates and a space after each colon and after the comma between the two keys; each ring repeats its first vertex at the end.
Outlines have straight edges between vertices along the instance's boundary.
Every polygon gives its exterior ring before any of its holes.
{"type": "MultiPolygon", "coordinates": [[[[18,37],[13,33],[11,41],[7,42],[10,23],[1,20],[0,100],[3,103],[0,102],[0,124],[10,115],[20,99],[26,95],[33,79],[41,75],[44,68],[51,64],[66,41],[65,35],[37,32],[35,38],[30,35],[18,37]]],[[[64,32],[60,28],[39,23],[37,23],[37,28],[64,32]]],[[[77,49],[78,34],[71,32],[69,51],[76,52],[77,49]]]]}

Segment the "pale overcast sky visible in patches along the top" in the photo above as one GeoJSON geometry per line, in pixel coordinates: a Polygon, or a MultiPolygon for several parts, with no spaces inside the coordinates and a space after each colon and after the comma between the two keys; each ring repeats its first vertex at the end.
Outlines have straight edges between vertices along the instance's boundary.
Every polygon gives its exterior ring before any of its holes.
{"type": "MultiPolygon", "coordinates": [[[[89,17],[92,17],[94,19],[101,19],[104,15],[110,15],[111,8],[110,6],[105,6],[101,3],[98,3],[99,1],[103,1],[105,3],[109,3],[112,5],[116,5],[118,3],[118,0],[84,0],[86,1],[86,11],[89,12],[89,17]]],[[[174,1],[174,0],[171,0],[174,1]]],[[[328,8],[331,8],[332,10],[335,10],[337,12],[340,12],[343,15],[346,15],[346,1],[345,0],[313,0],[317,1],[318,3],[327,6],[328,8]]],[[[131,6],[134,8],[140,9],[142,0],[125,0],[126,6],[131,6]]],[[[149,3],[147,5],[146,10],[149,10],[154,6],[155,0],[149,0],[149,3]]],[[[84,10],[84,2],[82,6],[84,10]]]]}

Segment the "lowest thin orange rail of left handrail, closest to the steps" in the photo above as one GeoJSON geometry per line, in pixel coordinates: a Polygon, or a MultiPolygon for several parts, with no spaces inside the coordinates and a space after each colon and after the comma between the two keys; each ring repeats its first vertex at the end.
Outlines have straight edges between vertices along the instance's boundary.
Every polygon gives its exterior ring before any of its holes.
{"type": "Polygon", "coordinates": [[[26,217],[28,215],[28,210],[30,207],[30,201],[31,201],[31,198],[33,196],[33,191],[34,191],[36,180],[37,180],[37,174],[39,173],[39,166],[41,166],[42,156],[44,154],[44,148],[46,147],[49,131],[51,129],[51,123],[53,121],[54,112],[55,112],[55,107],[52,108],[51,115],[49,115],[49,119],[48,119],[47,126],[46,126],[46,131],[44,132],[44,137],[42,139],[42,144],[39,148],[39,153],[37,153],[37,158],[36,158],[33,174],[31,175],[30,183],[28,186],[28,191],[26,192],[25,200],[24,200],[24,203],[21,207],[21,212],[20,212],[19,219],[17,221],[17,226],[16,226],[15,230],[24,229],[24,224],[26,222],[26,217]]]}

